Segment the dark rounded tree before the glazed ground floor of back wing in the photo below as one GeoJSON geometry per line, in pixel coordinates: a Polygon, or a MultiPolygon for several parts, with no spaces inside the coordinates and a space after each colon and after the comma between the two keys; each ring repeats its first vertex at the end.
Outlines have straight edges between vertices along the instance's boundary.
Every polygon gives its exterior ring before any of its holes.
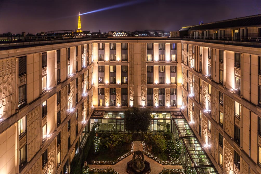
{"type": "Polygon", "coordinates": [[[150,109],[133,107],[125,112],[125,130],[147,132],[150,126],[150,109]]]}

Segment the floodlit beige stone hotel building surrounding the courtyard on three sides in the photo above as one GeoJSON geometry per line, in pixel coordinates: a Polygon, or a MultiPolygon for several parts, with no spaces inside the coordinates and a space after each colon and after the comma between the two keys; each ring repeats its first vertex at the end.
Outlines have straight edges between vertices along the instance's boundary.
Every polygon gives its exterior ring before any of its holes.
{"type": "Polygon", "coordinates": [[[260,174],[260,21],[183,27],[176,38],[2,42],[0,173],[70,173],[94,113],[135,106],[180,112],[216,173],[260,174]]]}

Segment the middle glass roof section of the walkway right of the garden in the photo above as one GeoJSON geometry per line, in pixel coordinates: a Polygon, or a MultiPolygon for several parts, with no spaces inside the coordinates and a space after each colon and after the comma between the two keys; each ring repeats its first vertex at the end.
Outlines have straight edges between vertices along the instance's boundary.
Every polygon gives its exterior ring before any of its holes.
{"type": "Polygon", "coordinates": [[[194,166],[208,166],[212,165],[210,159],[207,157],[205,152],[200,147],[200,143],[195,137],[185,137],[183,138],[186,146],[188,147],[188,151],[192,156],[194,161],[194,166]]]}

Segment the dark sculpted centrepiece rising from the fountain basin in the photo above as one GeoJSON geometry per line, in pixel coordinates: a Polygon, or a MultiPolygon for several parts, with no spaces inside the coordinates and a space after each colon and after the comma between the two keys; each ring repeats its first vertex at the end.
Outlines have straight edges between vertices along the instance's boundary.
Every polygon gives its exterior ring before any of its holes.
{"type": "Polygon", "coordinates": [[[137,150],[132,153],[132,168],[135,171],[140,172],[144,169],[144,161],[144,153],[142,151],[137,150]]]}

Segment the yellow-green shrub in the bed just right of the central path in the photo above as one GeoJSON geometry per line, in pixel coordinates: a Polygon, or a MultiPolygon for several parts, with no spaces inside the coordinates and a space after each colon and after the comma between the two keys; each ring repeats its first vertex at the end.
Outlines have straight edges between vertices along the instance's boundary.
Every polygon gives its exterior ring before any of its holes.
{"type": "Polygon", "coordinates": [[[153,151],[162,153],[167,149],[166,138],[162,134],[152,134],[151,132],[145,134],[145,141],[152,145],[153,151]]]}

